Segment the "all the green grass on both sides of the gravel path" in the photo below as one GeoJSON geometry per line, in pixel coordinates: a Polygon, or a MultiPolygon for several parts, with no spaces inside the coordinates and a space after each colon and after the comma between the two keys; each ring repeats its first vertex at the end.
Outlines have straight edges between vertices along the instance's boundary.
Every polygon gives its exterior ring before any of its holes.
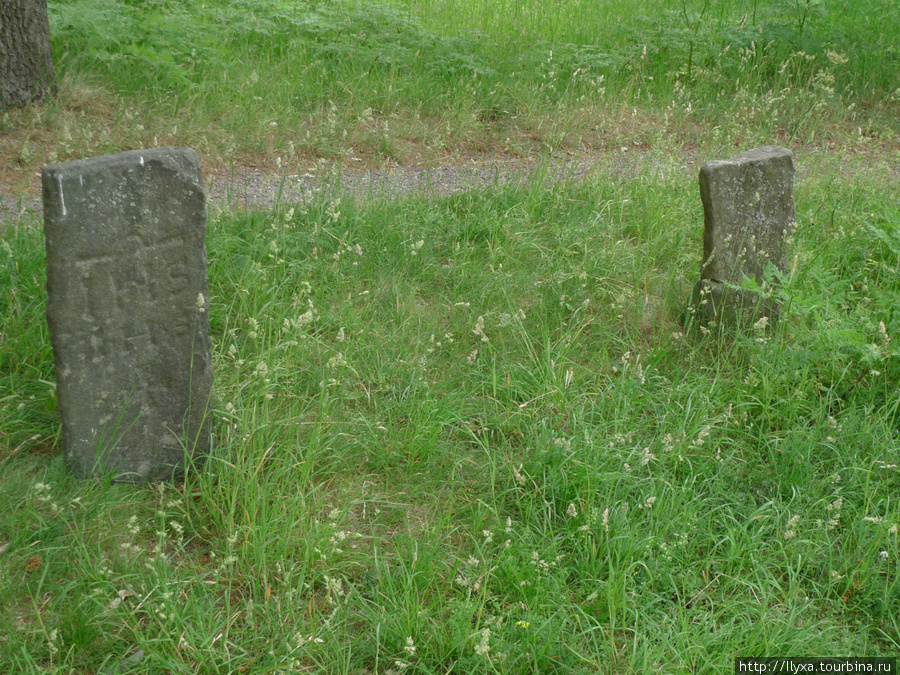
{"type": "Polygon", "coordinates": [[[8,217],[0,670],[721,673],[900,652],[896,3],[50,11],[60,93],[0,117],[9,186],[170,144],[283,170],[643,160],[212,209],[216,447],[177,484],[67,475],[41,223],[8,217]],[[765,143],[799,169],[781,320],[697,325],[685,152],[765,143]]]}

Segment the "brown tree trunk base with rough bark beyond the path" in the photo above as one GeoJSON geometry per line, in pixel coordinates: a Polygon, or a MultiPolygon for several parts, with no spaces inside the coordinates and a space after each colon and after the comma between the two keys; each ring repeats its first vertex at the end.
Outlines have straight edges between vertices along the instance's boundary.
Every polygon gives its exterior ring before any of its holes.
{"type": "Polygon", "coordinates": [[[0,0],[0,110],[52,93],[47,0],[0,0]]]}

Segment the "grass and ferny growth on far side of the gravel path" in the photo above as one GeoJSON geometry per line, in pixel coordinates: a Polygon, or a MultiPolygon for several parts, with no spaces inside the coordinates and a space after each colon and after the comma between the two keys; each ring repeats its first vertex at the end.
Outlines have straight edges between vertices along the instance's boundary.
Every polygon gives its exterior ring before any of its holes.
{"type": "Polygon", "coordinates": [[[22,165],[166,144],[219,163],[406,163],[618,147],[623,135],[652,145],[647,127],[682,143],[710,128],[746,144],[890,141],[898,12],[840,0],[56,0],[61,97],[2,124],[18,131],[8,151],[22,165]],[[626,110],[645,124],[623,123],[626,110]]]}

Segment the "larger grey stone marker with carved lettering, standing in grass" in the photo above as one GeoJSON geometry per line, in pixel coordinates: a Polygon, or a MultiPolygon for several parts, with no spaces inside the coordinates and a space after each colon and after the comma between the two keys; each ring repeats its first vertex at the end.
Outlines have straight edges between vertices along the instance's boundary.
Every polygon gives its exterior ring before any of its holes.
{"type": "Polygon", "coordinates": [[[167,480],[212,438],[206,195],[197,154],[44,168],[47,323],[78,476],[167,480]]]}

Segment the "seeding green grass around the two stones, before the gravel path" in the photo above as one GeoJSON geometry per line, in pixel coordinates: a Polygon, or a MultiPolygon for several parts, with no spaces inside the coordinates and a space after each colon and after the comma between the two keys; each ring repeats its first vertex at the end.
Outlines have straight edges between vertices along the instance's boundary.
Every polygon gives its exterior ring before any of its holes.
{"type": "Polygon", "coordinates": [[[57,433],[30,375],[40,234],[7,228],[0,663],[896,653],[900,214],[883,175],[804,161],[787,310],[746,335],[681,322],[702,218],[677,173],[217,215],[218,442],[175,486],[78,483],[30,449],[57,433]]]}

